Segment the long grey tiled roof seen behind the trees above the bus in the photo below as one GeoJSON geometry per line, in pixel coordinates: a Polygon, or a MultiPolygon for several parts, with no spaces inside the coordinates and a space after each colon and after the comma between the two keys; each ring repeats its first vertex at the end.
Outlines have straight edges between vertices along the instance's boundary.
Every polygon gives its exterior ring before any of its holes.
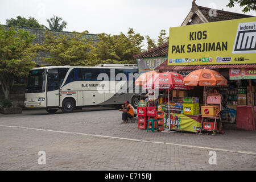
{"type": "MultiPolygon", "coordinates": [[[[10,26],[5,26],[6,28],[9,28],[10,26]]],[[[30,32],[31,34],[35,35],[35,40],[34,40],[34,44],[43,44],[44,42],[44,29],[39,29],[39,28],[28,28],[28,27],[15,27],[16,30],[25,30],[30,32]]],[[[51,30],[50,30],[51,31],[51,30]]],[[[65,35],[65,36],[71,36],[72,32],[67,32],[67,31],[52,31],[54,36],[59,36],[59,35],[65,35]]],[[[85,39],[90,39],[92,41],[98,41],[98,35],[97,34],[83,34],[82,38],[85,39]]],[[[32,58],[33,61],[35,61],[35,63],[37,65],[49,65],[47,63],[44,63],[43,61],[43,57],[48,57],[49,53],[45,53],[45,52],[38,52],[38,55],[34,58],[32,58]]]]}

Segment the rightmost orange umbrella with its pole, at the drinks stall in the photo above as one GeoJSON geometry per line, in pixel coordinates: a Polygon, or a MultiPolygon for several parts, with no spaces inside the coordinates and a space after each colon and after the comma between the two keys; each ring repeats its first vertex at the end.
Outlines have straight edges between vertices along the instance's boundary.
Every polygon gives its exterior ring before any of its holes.
{"type": "MultiPolygon", "coordinates": [[[[228,80],[220,73],[212,69],[198,69],[189,73],[183,78],[184,84],[189,86],[213,86],[213,85],[227,85],[228,80]]],[[[206,105],[206,93],[204,95],[206,105]]]]}

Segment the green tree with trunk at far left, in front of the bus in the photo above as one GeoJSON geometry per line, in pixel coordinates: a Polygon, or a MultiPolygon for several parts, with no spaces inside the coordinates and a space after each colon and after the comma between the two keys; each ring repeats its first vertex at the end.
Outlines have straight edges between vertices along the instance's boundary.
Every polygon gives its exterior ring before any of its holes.
{"type": "Polygon", "coordinates": [[[35,36],[24,30],[0,26],[0,82],[5,99],[16,77],[26,77],[35,66],[31,58],[35,56],[32,42],[35,36]]]}

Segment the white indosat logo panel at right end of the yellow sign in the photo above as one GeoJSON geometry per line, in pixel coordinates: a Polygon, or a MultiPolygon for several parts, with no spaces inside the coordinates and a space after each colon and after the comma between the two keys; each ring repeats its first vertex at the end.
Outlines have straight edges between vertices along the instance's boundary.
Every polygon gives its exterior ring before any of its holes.
{"type": "Polygon", "coordinates": [[[256,53],[256,22],[238,24],[232,53],[256,53]]]}

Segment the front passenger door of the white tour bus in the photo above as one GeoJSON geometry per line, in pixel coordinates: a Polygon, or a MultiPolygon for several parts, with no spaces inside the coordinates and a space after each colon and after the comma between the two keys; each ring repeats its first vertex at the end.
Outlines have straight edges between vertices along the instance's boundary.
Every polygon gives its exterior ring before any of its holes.
{"type": "Polygon", "coordinates": [[[59,73],[57,69],[49,69],[47,76],[47,107],[59,107],[59,73]]]}

